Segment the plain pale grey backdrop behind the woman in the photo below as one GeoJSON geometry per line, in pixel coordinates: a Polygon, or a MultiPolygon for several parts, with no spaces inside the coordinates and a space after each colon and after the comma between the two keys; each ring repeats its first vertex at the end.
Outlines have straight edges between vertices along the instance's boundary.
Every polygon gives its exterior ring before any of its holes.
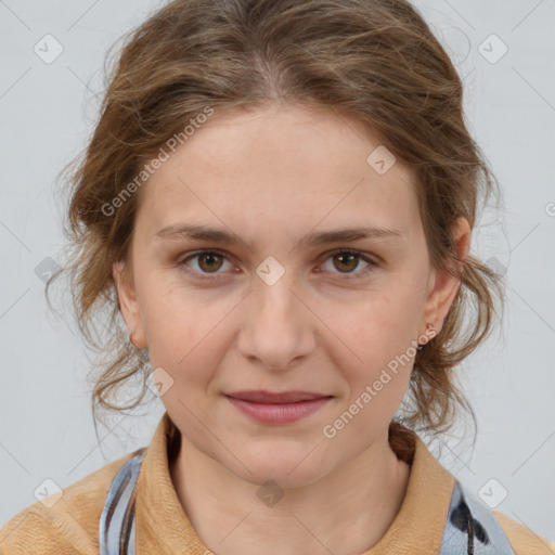
{"type": "MultiPolygon", "coordinates": [[[[146,446],[164,413],[152,396],[101,427],[99,444],[91,353],[69,313],[48,312],[43,282],[64,245],[54,181],[92,130],[107,49],[163,3],[0,1],[0,526],[44,480],[65,488],[146,446]]],[[[469,427],[430,449],[480,499],[555,540],[555,1],[415,4],[464,79],[469,129],[506,203],[473,240],[507,292],[502,326],[459,371],[476,449],[469,427]]]]}

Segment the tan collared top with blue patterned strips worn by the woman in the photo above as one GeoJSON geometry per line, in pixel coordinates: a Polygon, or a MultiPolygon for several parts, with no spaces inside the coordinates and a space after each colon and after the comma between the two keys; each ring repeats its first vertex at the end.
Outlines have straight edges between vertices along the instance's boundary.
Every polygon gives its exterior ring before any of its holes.
{"type": "MultiPolygon", "coordinates": [[[[192,528],[171,481],[168,463],[175,456],[173,438],[179,434],[176,430],[166,412],[145,450],[129,453],[103,466],[65,488],[62,495],[57,493],[54,494],[57,498],[51,495],[37,501],[12,517],[0,531],[2,555],[99,554],[99,527],[108,490],[118,470],[121,469],[121,477],[124,465],[138,453],[143,457],[135,467],[137,483],[132,486],[133,482],[129,482],[129,475],[121,482],[132,491],[134,500],[134,503],[127,504],[132,507],[134,518],[132,551],[137,555],[209,555],[211,552],[192,528]]],[[[455,552],[461,555],[555,554],[555,543],[483,504],[478,507],[476,500],[470,501],[470,492],[439,464],[416,434],[414,446],[409,487],[401,508],[382,540],[362,555],[454,555],[446,540],[456,534],[465,542],[473,537],[472,546],[466,548],[464,543],[465,548],[455,552]],[[461,492],[466,496],[465,504],[461,504],[461,492]],[[472,513],[474,518],[465,520],[467,513],[472,513]],[[488,537],[489,544],[485,539],[488,537]],[[506,546],[504,542],[507,542],[506,546]],[[492,543],[495,543],[495,550],[492,543]]],[[[119,503],[124,503],[121,499],[118,499],[119,503]]],[[[108,520],[116,520],[119,509],[108,508],[105,511],[108,520]]],[[[121,553],[131,552],[125,547],[121,553]]]]}

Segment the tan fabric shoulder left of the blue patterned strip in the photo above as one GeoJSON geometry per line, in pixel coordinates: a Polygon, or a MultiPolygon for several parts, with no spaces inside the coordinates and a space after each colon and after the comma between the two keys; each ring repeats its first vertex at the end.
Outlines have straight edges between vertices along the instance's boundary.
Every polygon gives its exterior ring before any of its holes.
{"type": "Polygon", "coordinates": [[[0,530],[0,554],[98,554],[99,520],[112,480],[135,453],[17,513],[0,530]]]}

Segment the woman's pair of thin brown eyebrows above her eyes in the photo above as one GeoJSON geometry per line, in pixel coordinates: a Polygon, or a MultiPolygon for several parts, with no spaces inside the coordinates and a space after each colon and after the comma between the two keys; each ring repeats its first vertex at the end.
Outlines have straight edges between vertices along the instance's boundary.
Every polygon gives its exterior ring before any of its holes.
{"type": "MultiPolygon", "coordinates": [[[[155,237],[159,240],[193,238],[210,243],[219,243],[221,245],[243,243],[236,235],[229,233],[223,229],[186,223],[168,225],[159,230],[155,234],[155,237]]],[[[300,245],[319,246],[328,243],[348,243],[361,238],[388,240],[402,237],[403,234],[399,230],[388,230],[383,228],[345,228],[310,233],[300,241],[300,245]]]]}

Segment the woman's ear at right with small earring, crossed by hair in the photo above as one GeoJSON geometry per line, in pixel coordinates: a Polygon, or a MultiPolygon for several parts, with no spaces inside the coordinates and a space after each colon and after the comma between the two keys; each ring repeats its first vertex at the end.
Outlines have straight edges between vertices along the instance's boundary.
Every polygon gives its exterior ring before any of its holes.
{"type": "MultiPolygon", "coordinates": [[[[460,217],[451,228],[451,234],[456,245],[457,257],[463,259],[470,246],[472,227],[468,220],[460,217]]],[[[462,269],[461,262],[456,262],[456,266],[460,270],[462,269]]],[[[427,323],[431,323],[436,327],[436,335],[439,334],[460,286],[461,281],[447,270],[436,270],[431,273],[430,287],[428,288],[423,314],[423,328],[426,327],[427,323]]]]}

